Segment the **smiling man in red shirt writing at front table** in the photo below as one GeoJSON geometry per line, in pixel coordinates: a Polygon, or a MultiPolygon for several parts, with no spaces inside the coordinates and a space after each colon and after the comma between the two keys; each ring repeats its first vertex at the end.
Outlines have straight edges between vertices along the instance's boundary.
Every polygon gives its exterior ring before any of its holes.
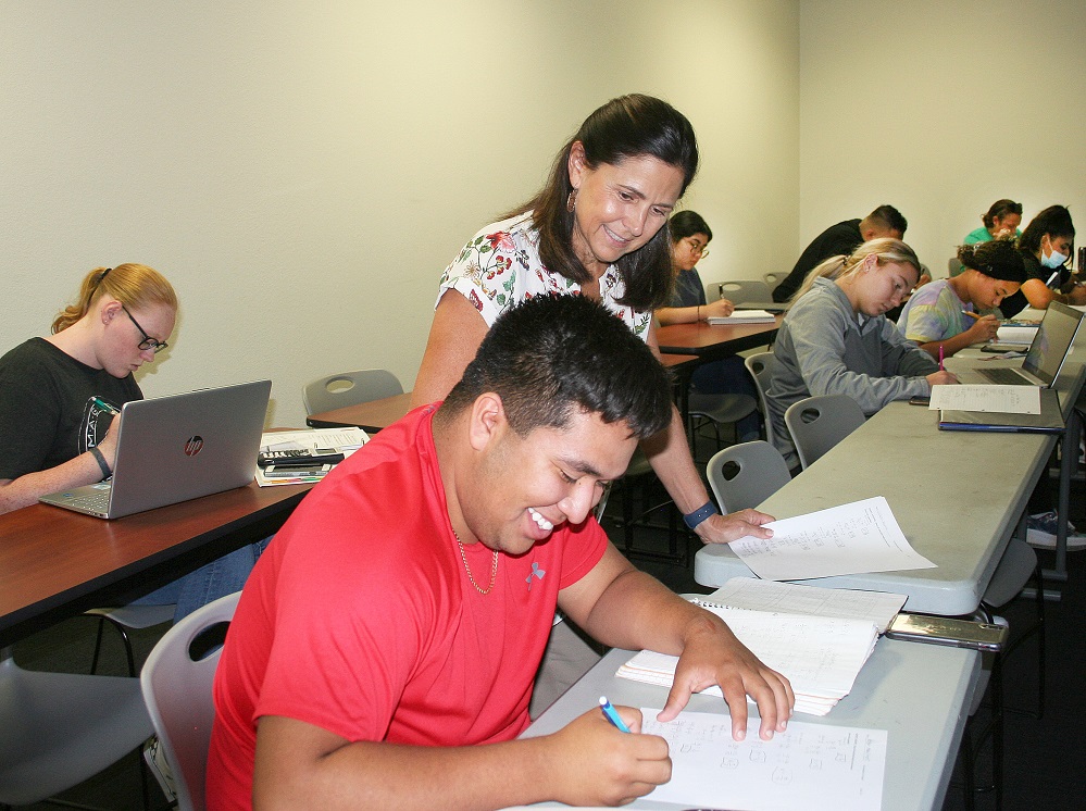
{"type": "Polygon", "coordinates": [[[661,720],[719,684],[739,738],[748,695],[761,737],[783,731],[788,682],[591,515],[671,410],[651,350],[587,297],[499,316],[445,402],[337,466],[257,563],[215,674],[209,809],[616,806],[666,783],[666,741],[598,706],[517,739],[556,608],[679,657],[661,720]]]}

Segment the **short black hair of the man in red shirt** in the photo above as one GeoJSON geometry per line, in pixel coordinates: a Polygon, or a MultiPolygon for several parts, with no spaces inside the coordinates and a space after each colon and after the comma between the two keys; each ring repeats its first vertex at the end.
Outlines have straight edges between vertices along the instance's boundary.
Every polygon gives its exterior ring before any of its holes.
{"type": "Polygon", "coordinates": [[[536,296],[502,313],[442,411],[487,391],[521,436],[564,428],[576,411],[623,421],[644,439],[671,421],[671,383],[652,350],[617,316],[584,296],[536,296]]]}

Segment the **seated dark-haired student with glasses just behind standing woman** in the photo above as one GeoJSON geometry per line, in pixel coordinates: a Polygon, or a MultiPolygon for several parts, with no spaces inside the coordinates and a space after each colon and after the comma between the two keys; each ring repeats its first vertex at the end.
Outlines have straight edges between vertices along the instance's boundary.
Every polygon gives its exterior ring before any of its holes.
{"type": "MultiPolygon", "coordinates": [[[[669,324],[692,324],[708,321],[711,316],[731,315],[735,305],[725,298],[712,303],[706,300],[706,287],[696,265],[709,253],[709,242],[713,233],[700,214],[681,211],[667,224],[671,232],[671,264],[675,274],[675,288],[671,295],[671,305],[657,310],[661,326],[669,324]]],[[[747,395],[758,400],[750,375],[742,361],[736,355],[719,361],[702,363],[690,376],[690,395],[747,395]]],[[[736,425],[740,442],[758,438],[758,412],[742,417],[736,425]]]]}

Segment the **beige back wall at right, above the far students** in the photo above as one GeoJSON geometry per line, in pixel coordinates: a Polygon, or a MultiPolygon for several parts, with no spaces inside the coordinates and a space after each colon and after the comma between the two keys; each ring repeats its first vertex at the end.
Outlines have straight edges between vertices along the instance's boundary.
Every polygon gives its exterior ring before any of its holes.
{"type": "MultiPolygon", "coordinates": [[[[1086,228],[1082,0],[800,3],[800,250],[889,202],[936,275],[1009,197],[1086,228]]],[[[1023,225],[1023,227],[1025,227],[1023,225]]],[[[1082,240],[1079,240],[1082,241],[1082,240]]]]}

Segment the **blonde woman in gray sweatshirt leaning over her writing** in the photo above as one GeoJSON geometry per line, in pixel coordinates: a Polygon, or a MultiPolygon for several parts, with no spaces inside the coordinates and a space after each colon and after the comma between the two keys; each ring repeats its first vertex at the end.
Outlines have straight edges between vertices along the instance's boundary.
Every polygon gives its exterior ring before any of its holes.
{"type": "Polygon", "coordinates": [[[932,386],[958,382],[886,319],[919,276],[916,253],[890,238],[864,242],[811,271],[777,333],[765,392],[774,444],[789,467],[799,464],[784,423],[794,402],[847,395],[874,414],[894,400],[928,397],[932,386]]]}

